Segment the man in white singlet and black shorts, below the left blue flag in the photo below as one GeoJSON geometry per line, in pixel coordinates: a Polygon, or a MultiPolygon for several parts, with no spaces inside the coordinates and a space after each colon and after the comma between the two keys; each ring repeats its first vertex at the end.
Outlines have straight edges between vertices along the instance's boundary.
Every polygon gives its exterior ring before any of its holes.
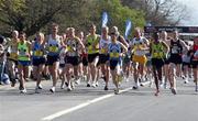
{"type": "Polygon", "coordinates": [[[108,46],[109,43],[111,42],[111,38],[108,35],[108,33],[109,33],[109,28],[108,26],[102,28],[102,35],[100,37],[100,55],[98,62],[98,65],[101,67],[103,79],[106,81],[105,90],[109,89],[108,82],[109,82],[109,73],[110,73],[108,66],[108,61],[109,61],[108,46]]]}

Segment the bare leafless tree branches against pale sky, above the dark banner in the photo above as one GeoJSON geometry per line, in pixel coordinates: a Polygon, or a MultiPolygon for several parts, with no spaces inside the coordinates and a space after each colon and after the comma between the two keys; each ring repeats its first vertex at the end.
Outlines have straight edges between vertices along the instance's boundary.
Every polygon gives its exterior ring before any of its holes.
{"type": "Polygon", "coordinates": [[[152,25],[178,25],[187,15],[187,7],[176,0],[121,0],[131,9],[142,10],[152,25]]]}

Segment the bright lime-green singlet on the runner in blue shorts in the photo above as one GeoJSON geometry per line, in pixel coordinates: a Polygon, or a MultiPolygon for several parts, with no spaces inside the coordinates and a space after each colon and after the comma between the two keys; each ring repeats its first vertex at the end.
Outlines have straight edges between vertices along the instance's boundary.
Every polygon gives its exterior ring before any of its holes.
{"type": "Polygon", "coordinates": [[[26,44],[28,42],[24,42],[23,44],[18,44],[18,61],[30,61],[29,55],[29,46],[26,44]]]}

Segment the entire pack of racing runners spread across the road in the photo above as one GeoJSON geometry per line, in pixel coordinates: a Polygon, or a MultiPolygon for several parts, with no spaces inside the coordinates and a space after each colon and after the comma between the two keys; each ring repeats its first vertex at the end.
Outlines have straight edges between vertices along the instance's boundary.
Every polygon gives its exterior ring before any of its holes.
{"type": "Polygon", "coordinates": [[[87,35],[74,28],[58,35],[58,28],[53,23],[50,35],[38,32],[33,41],[24,32],[13,31],[10,40],[0,44],[1,80],[4,74],[9,75],[10,85],[19,82],[22,94],[26,92],[29,78],[36,80],[36,94],[42,90],[43,78],[53,80],[51,92],[56,91],[57,81],[62,89],[72,91],[80,81],[96,88],[102,78],[103,89],[109,90],[112,81],[114,94],[119,94],[122,80],[130,80],[134,90],[147,81],[155,84],[157,96],[161,87],[176,95],[176,80],[183,78],[187,84],[191,78],[198,91],[198,36],[189,44],[179,38],[176,30],[172,36],[165,31],[145,36],[135,28],[133,37],[127,40],[117,26],[103,26],[101,35],[94,24],[87,35]]]}

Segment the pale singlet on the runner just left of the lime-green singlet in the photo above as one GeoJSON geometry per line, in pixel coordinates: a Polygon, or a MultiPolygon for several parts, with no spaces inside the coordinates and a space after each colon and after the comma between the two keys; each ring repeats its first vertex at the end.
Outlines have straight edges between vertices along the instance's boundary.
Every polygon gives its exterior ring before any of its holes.
{"type": "Polygon", "coordinates": [[[10,59],[16,61],[18,59],[18,42],[14,42],[14,40],[11,40],[9,43],[9,52],[10,52],[10,59]]]}

